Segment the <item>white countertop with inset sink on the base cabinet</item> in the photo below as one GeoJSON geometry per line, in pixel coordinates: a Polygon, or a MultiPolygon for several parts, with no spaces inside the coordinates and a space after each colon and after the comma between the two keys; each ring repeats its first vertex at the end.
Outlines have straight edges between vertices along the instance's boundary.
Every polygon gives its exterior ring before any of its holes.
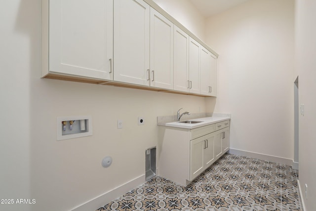
{"type": "Polygon", "coordinates": [[[230,119],[231,119],[230,114],[213,114],[211,117],[190,119],[190,121],[201,122],[201,123],[196,123],[196,124],[179,123],[179,122],[171,122],[171,123],[158,122],[157,125],[166,126],[166,127],[181,127],[181,128],[187,128],[187,129],[194,129],[197,127],[207,126],[207,125],[215,124],[215,123],[222,122],[225,120],[230,120],[230,119]]]}

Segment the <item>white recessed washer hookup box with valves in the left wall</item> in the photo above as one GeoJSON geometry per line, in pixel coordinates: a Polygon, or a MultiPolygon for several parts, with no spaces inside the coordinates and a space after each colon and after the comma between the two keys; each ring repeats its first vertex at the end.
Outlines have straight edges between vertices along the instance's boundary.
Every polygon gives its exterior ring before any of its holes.
{"type": "Polygon", "coordinates": [[[57,140],[92,135],[91,116],[57,117],[57,140]]]}

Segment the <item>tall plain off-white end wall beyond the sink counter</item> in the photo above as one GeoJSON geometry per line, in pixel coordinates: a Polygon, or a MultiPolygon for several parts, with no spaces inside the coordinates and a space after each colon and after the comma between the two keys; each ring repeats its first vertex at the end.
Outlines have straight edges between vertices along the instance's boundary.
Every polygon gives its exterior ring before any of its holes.
{"type": "Polygon", "coordinates": [[[214,112],[232,113],[231,148],[293,159],[294,0],[211,16],[206,43],[219,54],[214,112]]]}

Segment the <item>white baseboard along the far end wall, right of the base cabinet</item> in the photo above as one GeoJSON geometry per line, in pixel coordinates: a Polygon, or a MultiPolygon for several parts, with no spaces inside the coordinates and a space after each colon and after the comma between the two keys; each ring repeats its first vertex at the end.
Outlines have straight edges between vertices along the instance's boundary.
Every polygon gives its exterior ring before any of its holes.
{"type": "Polygon", "coordinates": [[[232,149],[232,148],[229,149],[229,153],[234,154],[234,155],[241,155],[241,156],[246,156],[246,157],[250,157],[250,158],[260,159],[260,160],[264,160],[264,161],[270,161],[270,162],[274,162],[274,163],[278,163],[278,164],[285,164],[288,166],[293,165],[293,160],[288,159],[288,158],[281,158],[281,157],[276,157],[276,156],[272,156],[272,155],[265,155],[265,154],[248,152],[248,151],[239,150],[239,149],[232,149]]]}

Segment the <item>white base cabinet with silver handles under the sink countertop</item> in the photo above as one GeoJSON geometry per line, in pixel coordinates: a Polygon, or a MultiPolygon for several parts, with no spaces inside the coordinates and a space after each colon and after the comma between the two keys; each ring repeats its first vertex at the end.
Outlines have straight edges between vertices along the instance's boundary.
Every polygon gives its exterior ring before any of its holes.
{"type": "Polygon", "coordinates": [[[229,150],[229,124],[227,120],[195,129],[159,127],[159,175],[188,185],[229,150]]]}

